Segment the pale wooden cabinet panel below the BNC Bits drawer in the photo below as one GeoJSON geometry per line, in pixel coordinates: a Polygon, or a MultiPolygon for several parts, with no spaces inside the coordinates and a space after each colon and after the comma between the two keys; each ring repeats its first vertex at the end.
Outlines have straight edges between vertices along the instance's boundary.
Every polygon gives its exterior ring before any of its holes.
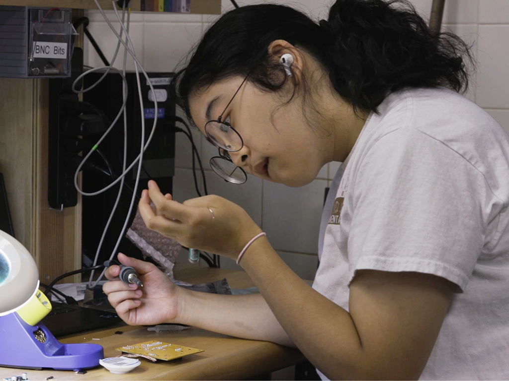
{"type": "Polygon", "coordinates": [[[47,201],[48,81],[0,78],[0,171],[14,234],[43,283],[81,267],[81,202],[58,211],[47,201]]]}

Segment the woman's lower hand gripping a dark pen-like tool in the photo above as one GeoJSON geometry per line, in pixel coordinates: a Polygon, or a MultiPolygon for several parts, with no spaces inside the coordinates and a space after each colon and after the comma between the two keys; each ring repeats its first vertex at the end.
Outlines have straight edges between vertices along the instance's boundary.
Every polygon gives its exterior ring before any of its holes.
{"type": "Polygon", "coordinates": [[[175,323],[182,290],[152,263],[119,253],[118,261],[138,273],[143,287],[119,279],[120,267],[112,265],[105,272],[109,282],[102,289],[121,319],[131,326],[175,323]]]}

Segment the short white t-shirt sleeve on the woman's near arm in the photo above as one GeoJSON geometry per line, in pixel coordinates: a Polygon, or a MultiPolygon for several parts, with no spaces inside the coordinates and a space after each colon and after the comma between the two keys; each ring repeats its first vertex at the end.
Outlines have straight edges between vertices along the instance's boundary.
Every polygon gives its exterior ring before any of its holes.
{"type": "Polygon", "coordinates": [[[360,269],[416,271],[465,289],[485,242],[491,191],[463,156],[399,129],[367,151],[348,192],[349,283],[360,269]]]}

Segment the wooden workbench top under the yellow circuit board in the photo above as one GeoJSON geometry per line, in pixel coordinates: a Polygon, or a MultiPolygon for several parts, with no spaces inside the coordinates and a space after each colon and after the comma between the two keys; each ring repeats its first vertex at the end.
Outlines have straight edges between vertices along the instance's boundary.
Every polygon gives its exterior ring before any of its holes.
{"type": "MultiPolygon", "coordinates": [[[[245,289],[253,286],[243,271],[210,269],[196,265],[177,265],[176,279],[202,283],[226,277],[233,289],[245,289]]],[[[145,327],[131,327],[125,324],[109,329],[91,331],[61,338],[63,343],[94,343],[104,347],[105,357],[116,357],[120,352],[116,347],[135,344],[148,340],[160,340],[193,348],[205,352],[190,355],[182,360],[157,361],[151,363],[140,359],[142,364],[125,374],[113,374],[102,366],[89,369],[86,374],[73,371],[22,370],[0,367],[0,379],[26,372],[30,381],[45,380],[53,376],[59,380],[149,380],[149,379],[254,379],[259,374],[295,365],[304,360],[302,354],[288,347],[266,341],[244,340],[231,336],[193,328],[172,333],[147,331],[145,327]],[[116,331],[123,334],[117,335],[116,331]],[[99,340],[93,340],[99,339],[99,340]]]]}

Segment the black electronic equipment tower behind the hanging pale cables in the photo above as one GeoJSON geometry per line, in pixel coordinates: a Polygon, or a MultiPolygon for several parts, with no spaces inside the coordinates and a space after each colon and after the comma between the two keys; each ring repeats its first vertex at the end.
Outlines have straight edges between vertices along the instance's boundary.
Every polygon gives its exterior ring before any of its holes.
{"type": "MultiPolygon", "coordinates": [[[[142,132],[142,111],[145,119],[145,139],[147,140],[154,122],[154,96],[158,103],[158,119],[152,141],[143,156],[143,168],[137,189],[137,199],[130,216],[127,211],[131,202],[132,192],[138,169],[137,164],[125,176],[123,196],[117,211],[112,218],[111,226],[101,248],[99,262],[109,259],[115,248],[118,236],[122,231],[124,221],[128,218],[129,227],[137,210],[137,202],[143,189],[147,188],[149,179],[155,180],[163,193],[172,193],[172,177],[175,173],[175,103],[169,99],[169,82],[174,73],[148,73],[154,87],[152,93],[147,79],[140,73],[143,104],[139,102],[136,75],[126,73],[128,98],[127,110],[127,166],[129,166],[140,152],[142,132]]],[[[102,72],[90,73],[84,77],[83,88],[88,88],[103,76],[102,72]]],[[[94,105],[100,110],[105,124],[117,116],[123,102],[121,76],[110,72],[91,90],[83,93],[83,101],[94,105]]],[[[86,144],[93,145],[102,134],[83,137],[86,144]]],[[[91,165],[83,167],[82,189],[92,193],[108,185],[113,178],[122,173],[122,156],[124,143],[124,118],[121,116],[114,129],[101,142],[99,152],[93,153],[89,162],[91,165]],[[105,161],[106,159],[106,161],[105,161]],[[108,173],[113,172],[112,175],[108,173]]],[[[115,204],[119,185],[116,185],[101,195],[83,197],[82,217],[82,247],[87,257],[93,259],[99,240],[104,231],[107,219],[115,204]]],[[[128,256],[142,258],[141,252],[127,238],[123,238],[118,251],[128,256]]]]}

